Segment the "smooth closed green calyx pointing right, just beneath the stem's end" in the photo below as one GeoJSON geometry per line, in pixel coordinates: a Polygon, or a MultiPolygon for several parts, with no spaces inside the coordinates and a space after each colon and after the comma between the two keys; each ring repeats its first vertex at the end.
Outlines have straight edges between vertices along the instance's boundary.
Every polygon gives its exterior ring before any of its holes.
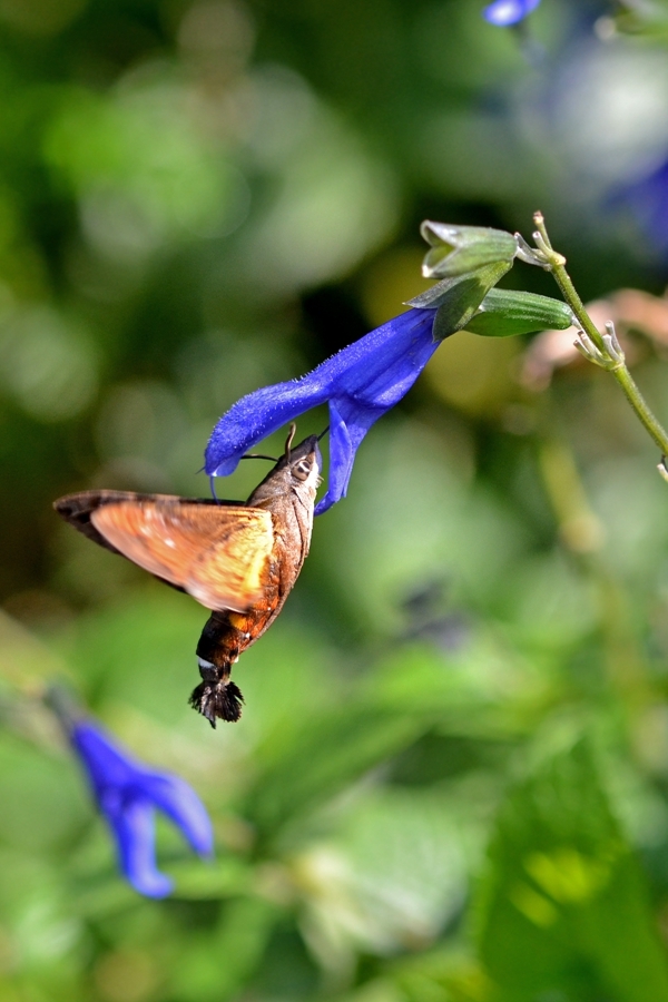
{"type": "Polygon", "coordinates": [[[561,299],[492,288],[466,324],[466,331],[483,337],[513,337],[533,331],[566,331],[574,323],[570,306],[561,299]]]}

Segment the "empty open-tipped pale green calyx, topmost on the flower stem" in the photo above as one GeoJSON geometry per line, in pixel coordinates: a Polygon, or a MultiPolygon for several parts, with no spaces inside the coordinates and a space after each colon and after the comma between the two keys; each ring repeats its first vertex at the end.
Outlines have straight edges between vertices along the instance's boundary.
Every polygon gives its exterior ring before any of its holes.
{"type": "Polygon", "coordinates": [[[425,278],[453,278],[494,262],[511,263],[518,253],[517,238],[503,229],[425,219],[420,233],[431,246],[422,263],[425,278]]]}

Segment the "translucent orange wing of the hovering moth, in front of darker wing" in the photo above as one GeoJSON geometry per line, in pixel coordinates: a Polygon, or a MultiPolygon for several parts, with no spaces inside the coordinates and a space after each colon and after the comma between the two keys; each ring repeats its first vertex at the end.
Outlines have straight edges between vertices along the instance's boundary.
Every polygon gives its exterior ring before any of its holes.
{"type": "Polygon", "coordinates": [[[244,612],[262,596],[274,546],[268,511],[165,497],[107,502],[90,521],[124,557],[207,609],[244,612]]]}

